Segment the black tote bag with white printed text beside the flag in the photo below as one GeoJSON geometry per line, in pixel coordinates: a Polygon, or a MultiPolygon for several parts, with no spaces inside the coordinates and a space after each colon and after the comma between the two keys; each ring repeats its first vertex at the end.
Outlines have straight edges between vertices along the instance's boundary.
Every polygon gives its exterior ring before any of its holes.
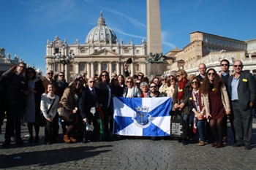
{"type": "MultiPolygon", "coordinates": [[[[175,112],[177,117],[177,114],[175,112]]],[[[185,139],[187,137],[187,125],[183,119],[170,119],[170,137],[185,139]]]]}

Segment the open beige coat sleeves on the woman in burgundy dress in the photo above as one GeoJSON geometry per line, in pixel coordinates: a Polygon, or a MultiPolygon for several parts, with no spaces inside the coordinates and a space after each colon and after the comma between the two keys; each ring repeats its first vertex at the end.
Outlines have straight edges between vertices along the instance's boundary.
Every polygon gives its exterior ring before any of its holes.
{"type": "MultiPolygon", "coordinates": [[[[230,111],[230,99],[227,95],[227,88],[224,83],[222,84],[222,87],[220,89],[222,90],[222,104],[225,108],[225,111],[230,111]]],[[[206,113],[211,115],[208,93],[203,94],[203,101],[206,107],[206,113]]]]}

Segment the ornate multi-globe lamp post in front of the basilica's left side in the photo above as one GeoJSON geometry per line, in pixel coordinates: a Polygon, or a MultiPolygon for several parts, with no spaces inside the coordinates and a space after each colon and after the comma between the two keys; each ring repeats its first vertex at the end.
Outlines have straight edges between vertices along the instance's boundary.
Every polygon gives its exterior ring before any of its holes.
{"type": "Polygon", "coordinates": [[[53,53],[53,59],[54,59],[54,63],[61,63],[63,66],[63,72],[65,74],[66,79],[67,77],[67,73],[65,72],[65,66],[67,64],[72,63],[72,61],[74,61],[75,58],[75,54],[74,53],[70,53],[65,55],[65,50],[67,49],[66,45],[62,45],[62,49],[63,49],[63,55],[61,55],[61,51],[59,51],[59,53],[53,53]],[[57,58],[57,61],[55,61],[55,59],[57,58]]]}

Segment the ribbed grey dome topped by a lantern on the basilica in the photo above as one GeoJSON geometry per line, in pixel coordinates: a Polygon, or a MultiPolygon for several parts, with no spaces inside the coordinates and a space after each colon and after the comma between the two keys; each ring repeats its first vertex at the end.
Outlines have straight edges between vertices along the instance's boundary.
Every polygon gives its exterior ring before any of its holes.
{"type": "Polygon", "coordinates": [[[105,19],[100,14],[98,24],[86,36],[86,44],[116,44],[116,34],[105,24],[105,19]]]}

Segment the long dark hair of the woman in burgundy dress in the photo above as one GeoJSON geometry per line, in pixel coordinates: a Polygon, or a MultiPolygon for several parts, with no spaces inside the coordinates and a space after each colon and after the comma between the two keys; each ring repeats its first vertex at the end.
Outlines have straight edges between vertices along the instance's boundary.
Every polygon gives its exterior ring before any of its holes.
{"type": "Polygon", "coordinates": [[[223,80],[222,77],[219,77],[217,72],[215,71],[215,69],[208,69],[206,72],[206,77],[203,79],[203,84],[200,87],[200,91],[203,94],[208,93],[209,90],[211,90],[210,88],[210,80],[208,79],[208,72],[210,71],[214,71],[214,88],[216,89],[216,91],[218,91],[223,84],[223,80]]]}

